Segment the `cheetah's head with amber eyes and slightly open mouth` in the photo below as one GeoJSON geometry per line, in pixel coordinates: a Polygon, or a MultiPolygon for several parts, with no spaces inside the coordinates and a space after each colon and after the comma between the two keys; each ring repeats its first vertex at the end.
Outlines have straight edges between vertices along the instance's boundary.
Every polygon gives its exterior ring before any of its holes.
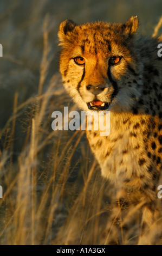
{"type": "Polygon", "coordinates": [[[137,103],[142,90],[142,63],[133,47],[137,28],[137,17],[113,25],[61,23],[63,84],[83,110],[129,111],[137,103]]]}

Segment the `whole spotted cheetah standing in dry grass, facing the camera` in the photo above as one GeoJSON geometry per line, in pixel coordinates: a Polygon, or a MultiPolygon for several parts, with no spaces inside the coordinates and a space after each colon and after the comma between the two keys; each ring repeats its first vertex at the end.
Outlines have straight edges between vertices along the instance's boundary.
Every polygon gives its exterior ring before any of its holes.
{"type": "MultiPolygon", "coordinates": [[[[126,23],[79,26],[63,21],[58,32],[60,72],[67,93],[82,111],[102,111],[104,116],[110,112],[109,135],[100,136],[100,130],[92,129],[86,136],[102,176],[116,187],[114,216],[120,209],[122,222],[116,218],[114,230],[130,228],[134,221],[129,216],[127,227],[125,212],[137,210],[137,244],[152,245],[160,243],[162,227],[157,197],[162,169],[162,58],[157,54],[160,39],[141,35],[138,27],[137,16],[126,23]]],[[[105,230],[109,232],[108,227],[105,230]]],[[[117,240],[122,244],[121,234],[117,240]]]]}

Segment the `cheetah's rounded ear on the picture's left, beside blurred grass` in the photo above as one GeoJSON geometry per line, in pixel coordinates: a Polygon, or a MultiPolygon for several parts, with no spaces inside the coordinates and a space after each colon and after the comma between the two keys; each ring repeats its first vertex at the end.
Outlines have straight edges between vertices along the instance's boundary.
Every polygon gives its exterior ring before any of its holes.
{"type": "Polygon", "coordinates": [[[77,24],[72,20],[65,20],[61,22],[58,32],[60,45],[62,45],[63,42],[68,39],[69,33],[72,32],[76,26],[77,24]]]}

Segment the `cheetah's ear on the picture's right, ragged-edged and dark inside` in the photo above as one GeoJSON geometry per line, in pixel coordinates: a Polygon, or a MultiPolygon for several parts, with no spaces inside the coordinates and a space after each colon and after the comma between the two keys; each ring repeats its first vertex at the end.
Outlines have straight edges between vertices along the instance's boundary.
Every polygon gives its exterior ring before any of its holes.
{"type": "Polygon", "coordinates": [[[124,25],[122,25],[122,29],[125,34],[134,34],[135,32],[137,32],[138,24],[139,22],[137,16],[132,16],[130,19],[126,21],[124,25]]]}

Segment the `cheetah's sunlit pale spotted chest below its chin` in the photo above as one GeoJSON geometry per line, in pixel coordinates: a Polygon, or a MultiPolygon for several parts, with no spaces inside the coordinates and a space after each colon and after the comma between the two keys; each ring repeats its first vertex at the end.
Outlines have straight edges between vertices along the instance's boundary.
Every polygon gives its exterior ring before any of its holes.
{"type": "Polygon", "coordinates": [[[103,176],[115,181],[121,174],[124,179],[129,179],[146,172],[149,159],[143,142],[144,130],[137,120],[131,122],[131,118],[125,118],[112,121],[109,136],[100,136],[99,131],[87,131],[103,176]]]}

